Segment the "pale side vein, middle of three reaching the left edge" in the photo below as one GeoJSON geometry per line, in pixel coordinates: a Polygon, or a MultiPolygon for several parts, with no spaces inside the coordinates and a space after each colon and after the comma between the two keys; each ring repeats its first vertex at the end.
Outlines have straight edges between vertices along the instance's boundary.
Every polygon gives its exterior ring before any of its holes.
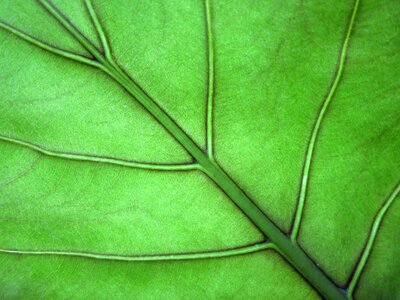
{"type": "Polygon", "coordinates": [[[136,169],[144,169],[144,170],[155,170],[155,171],[192,171],[198,170],[197,164],[156,164],[156,163],[143,163],[136,162],[131,160],[118,159],[113,157],[106,156],[97,156],[97,155],[89,155],[89,154],[78,154],[71,152],[62,152],[47,149],[43,146],[30,143],[18,138],[5,136],[0,134],[0,140],[14,143],[31,150],[37,151],[41,154],[58,157],[62,159],[70,159],[70,160],[78,160],[78,161],[88,161],[88,162],[96,162],[96,163],[105,163],[112,165],[119,165],[124,167],[136,168],[136,169]]]}

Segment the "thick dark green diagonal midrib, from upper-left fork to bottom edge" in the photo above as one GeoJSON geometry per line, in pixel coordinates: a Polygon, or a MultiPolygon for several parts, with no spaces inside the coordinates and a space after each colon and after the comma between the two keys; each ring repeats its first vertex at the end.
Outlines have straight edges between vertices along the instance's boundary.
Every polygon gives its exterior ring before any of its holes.
{"type": "Polygon", "coordinates": [[[96,57],[131,96],[159,122],[199,164],[200,170],[240,208],[242,213],[273,243],[289,263],[325,298],[347,299],[343,290],[305,254],[290,237],[282,232],[230,178],[219,164],[209,158],[191,137],[158,106],[127,74],[115,63],[104,57],[96,57]]]}

